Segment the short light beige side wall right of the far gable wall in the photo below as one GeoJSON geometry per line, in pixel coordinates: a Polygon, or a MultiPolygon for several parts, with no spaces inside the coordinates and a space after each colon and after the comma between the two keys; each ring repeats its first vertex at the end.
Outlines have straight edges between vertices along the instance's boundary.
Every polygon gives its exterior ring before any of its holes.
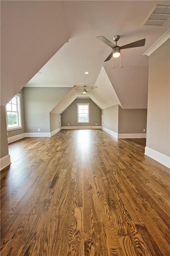
{"type": "Polygon", "coordinates": [[[102,109],[102,115],[104,115],[104,128],[116,133],[118,133],[118,111],[118,104],[102,109]]]}

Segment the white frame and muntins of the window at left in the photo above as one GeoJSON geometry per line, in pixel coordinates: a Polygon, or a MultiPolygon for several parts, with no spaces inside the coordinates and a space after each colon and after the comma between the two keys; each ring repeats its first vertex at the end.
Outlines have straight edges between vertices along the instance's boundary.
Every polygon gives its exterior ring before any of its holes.
{"type": "MultiPolygon", "coordinates": [[[[17,111],[7,111],[7,107],[5,106],[6,109],[6,123],[7,123],[7,132],[8,131],[14,131],[14,130],[18,130],[18,129],[22,129],[22,115],[21,115],[21,94],[17,93],[14,97],[17,97],[17,111]],[[16,127],[11,127],[8,128],[8,116],[7,116],[7,112],[17,112],[18,113],[18,124],[19,126],[16,127]]],[[[13,98],[14,98],[13,97],[13,98]]],[[[12,99],[11,99],[12,100],[12,99]]],[[[9,102],[8,102],[9,103],[9,102]]]]}

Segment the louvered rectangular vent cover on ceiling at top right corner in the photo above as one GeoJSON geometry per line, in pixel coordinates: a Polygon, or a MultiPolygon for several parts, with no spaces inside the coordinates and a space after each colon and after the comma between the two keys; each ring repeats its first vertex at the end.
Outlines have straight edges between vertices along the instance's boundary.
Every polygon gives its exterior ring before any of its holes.
{"type": "Polygon", "coordinates": [[[169,5],[156,5],[143,26],[164,26],[170,19],[169,5]]]}

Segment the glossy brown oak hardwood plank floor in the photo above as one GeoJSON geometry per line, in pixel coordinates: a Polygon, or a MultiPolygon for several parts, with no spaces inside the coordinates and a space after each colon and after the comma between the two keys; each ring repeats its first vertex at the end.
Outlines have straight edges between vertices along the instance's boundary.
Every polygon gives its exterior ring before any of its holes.
{"type": "Polygon", "coordinates": [[[169,256],[169,169],[144,146],[99,129],[10,144],[1,255],[169,256]]]}

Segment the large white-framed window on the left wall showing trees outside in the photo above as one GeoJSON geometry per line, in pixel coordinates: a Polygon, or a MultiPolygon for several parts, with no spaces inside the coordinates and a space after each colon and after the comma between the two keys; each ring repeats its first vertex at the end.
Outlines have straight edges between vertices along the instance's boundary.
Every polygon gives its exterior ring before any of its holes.
{"type": "Polygon", "coordinates": [[[6,105],[7,131],[21,129],[20,94],[17,94],[6,105]]]}

